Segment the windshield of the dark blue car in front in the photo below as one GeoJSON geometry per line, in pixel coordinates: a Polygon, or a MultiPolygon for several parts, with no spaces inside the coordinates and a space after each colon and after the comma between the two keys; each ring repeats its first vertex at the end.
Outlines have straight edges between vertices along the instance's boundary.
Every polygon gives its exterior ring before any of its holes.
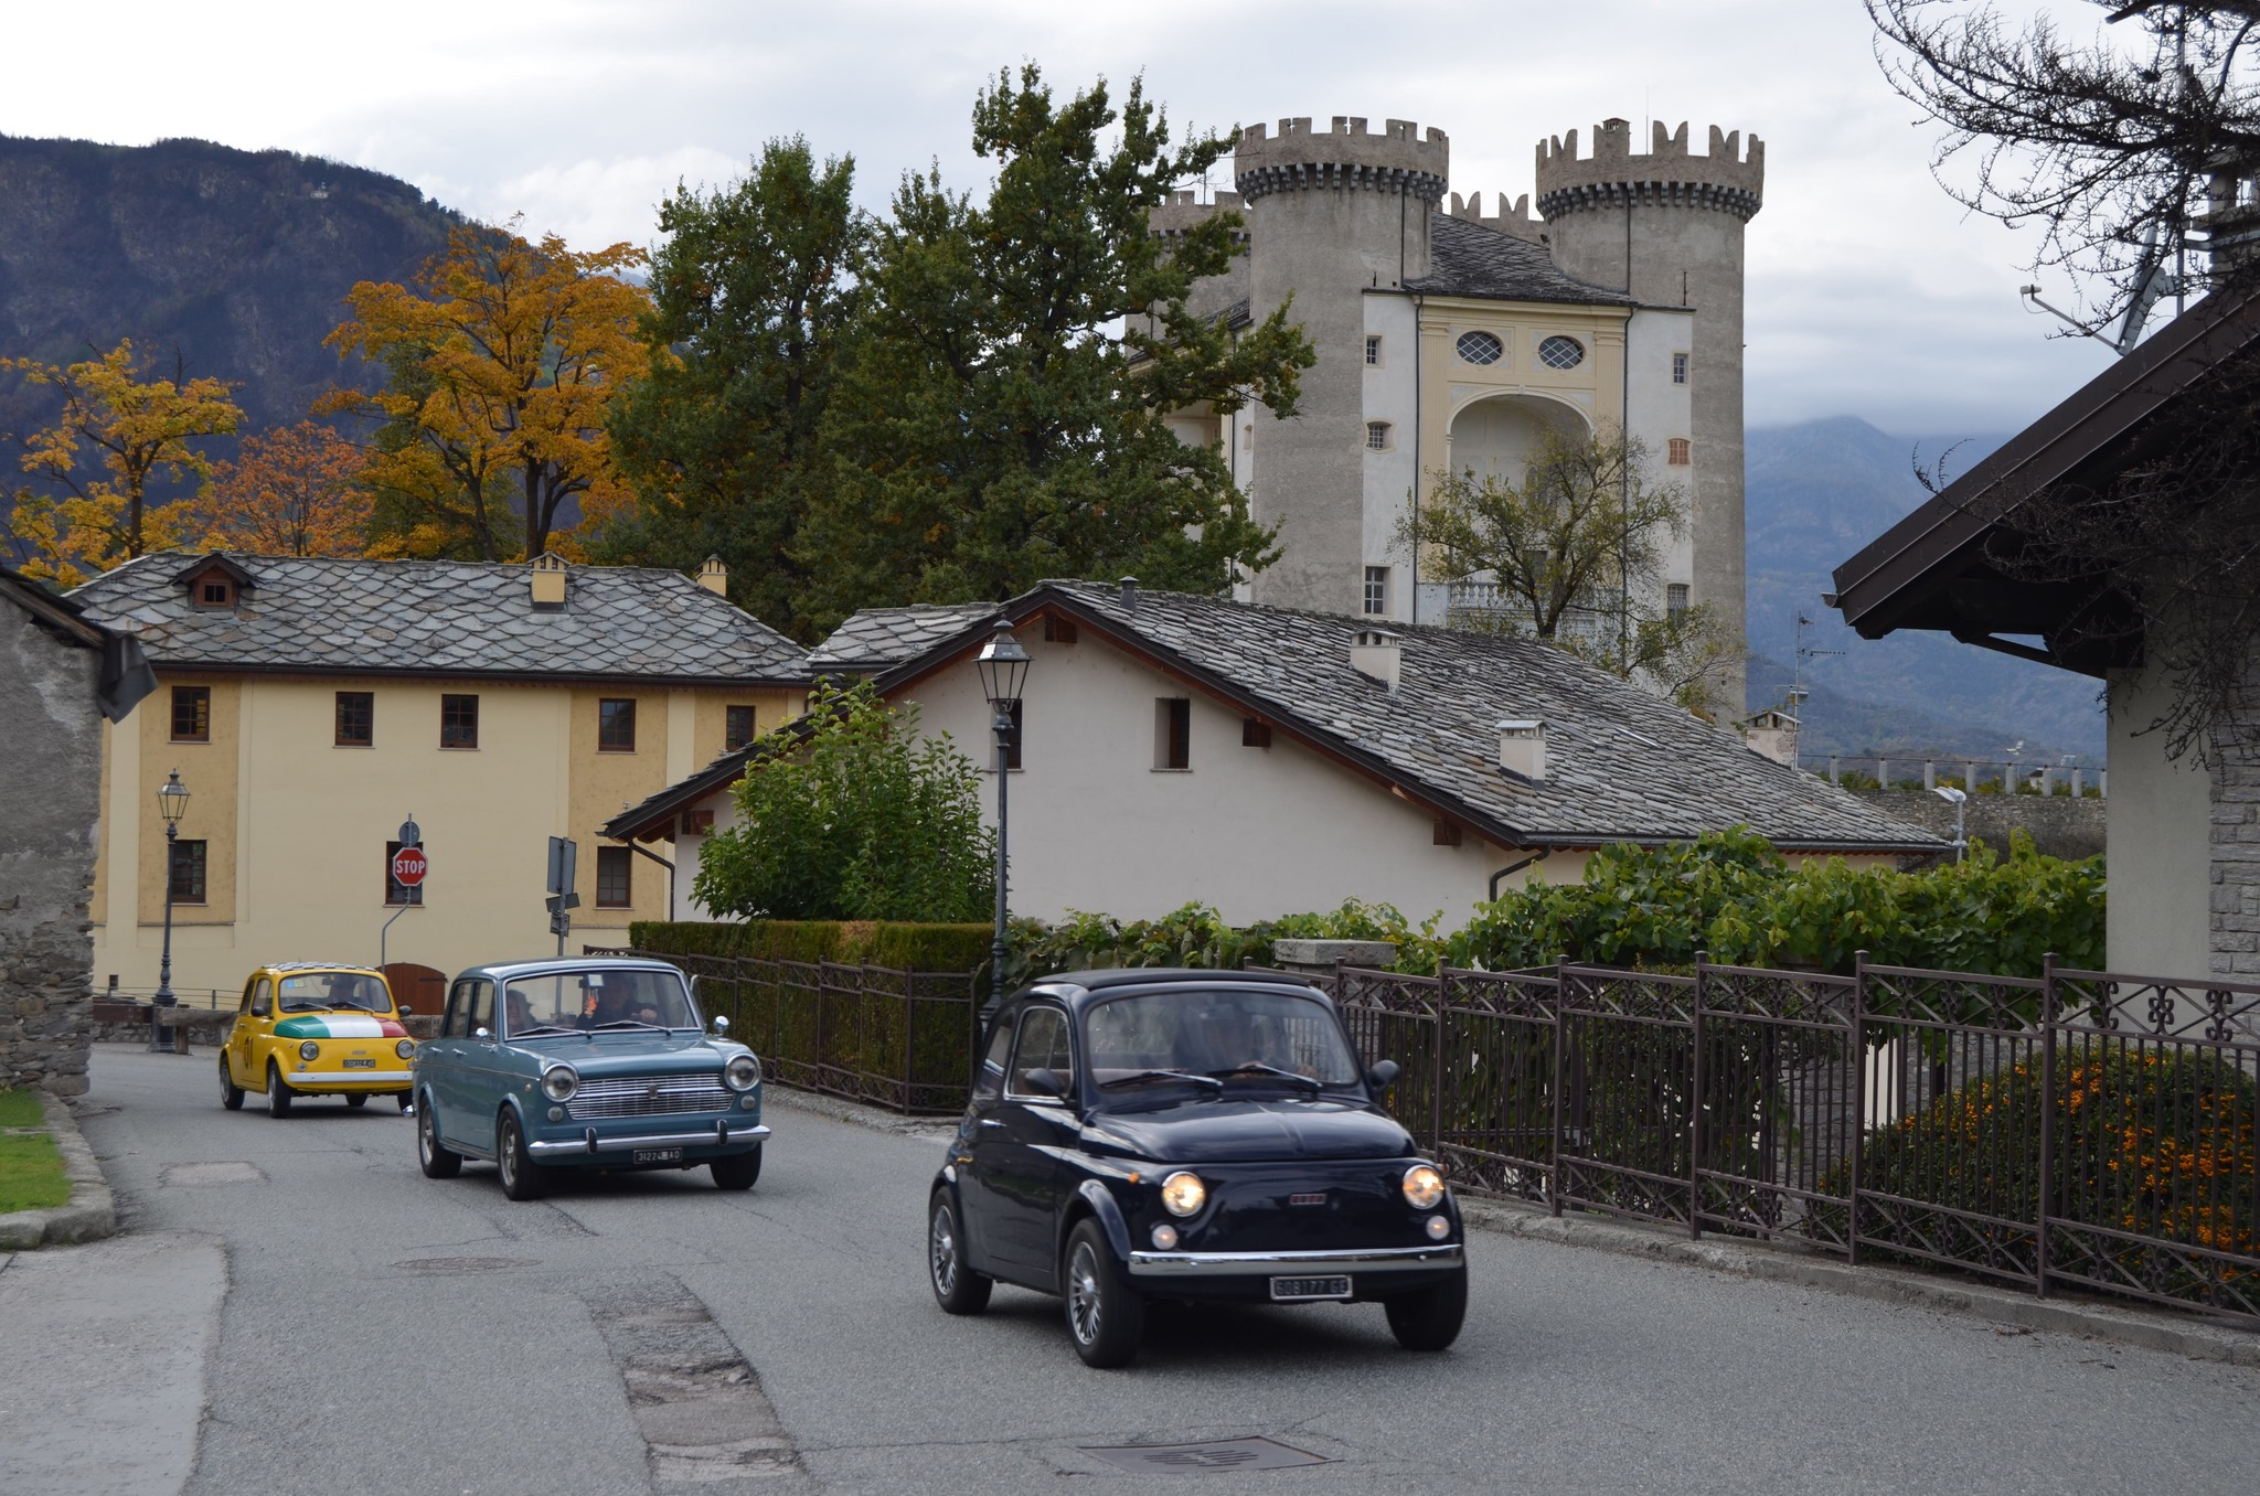
{"type": "Polygon", "coordinates": [[[1347,1087],[1358,1064],[1324,1003],[1252,988],[1135,992],[1083,1021],[1092,1080],[1130,1091],[1173,1080],[1347,1087]]]}

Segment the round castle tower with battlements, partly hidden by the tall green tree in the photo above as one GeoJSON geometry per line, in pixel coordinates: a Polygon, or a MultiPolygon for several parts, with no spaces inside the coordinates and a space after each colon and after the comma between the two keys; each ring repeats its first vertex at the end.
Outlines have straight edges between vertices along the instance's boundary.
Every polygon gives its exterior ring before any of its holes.
{"type": "Polygon", "coordinates": [[[1295,321],[1318,350],[1304,371],[1299,414],[1243,414],[1257,479],[1250,508],[1279,524],[1284,556],[1259,572],[1259,603],[1358,612],[1365,556],[1365,292],[1428,273],[1428,219],[1444,201],[1449,142],[1410,120],[1372,133],[1336,115],[1241,131],[1234,176],[1252,253],[1248,314],[1261,323],[1290,294],[1295,321]]]}

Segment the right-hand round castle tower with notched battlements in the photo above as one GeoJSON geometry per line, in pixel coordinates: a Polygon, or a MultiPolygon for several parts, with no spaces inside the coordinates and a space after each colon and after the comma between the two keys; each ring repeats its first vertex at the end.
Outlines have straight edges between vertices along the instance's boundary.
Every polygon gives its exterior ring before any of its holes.
{"type": "MultiPolygon", "coordinates": [[[[1709,156],[1688,154],[1688,127],[1659,122],[1645,156],[1632,124],[1602,120],[1593,154],[1577,131],[1539,142],[1539,212],[1555,262],[1645,305],[1693,307],[1688,407],[1693,416],[1695,603],[1745,635],[1742,601],[1742,224],[1765,190],[1765,142],[1711,127],[1709,156]]],[[[1668,470],[1663,470],[1668,472],[1668,470]]],[[[1729,714],[1742,714],[1736,660],[1729,714]]]]}

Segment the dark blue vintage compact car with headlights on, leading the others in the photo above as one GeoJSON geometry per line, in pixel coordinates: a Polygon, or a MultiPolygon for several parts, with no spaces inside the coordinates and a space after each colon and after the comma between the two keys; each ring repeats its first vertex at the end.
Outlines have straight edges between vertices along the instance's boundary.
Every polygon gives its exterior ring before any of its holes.
{"type": "Polygon", "coordinates": [[[1015,994],[927,1204],[933,1297],[1055,1293],[1076,1354],[1137,1356],[1148,1299],[1379,1302],[1440,1351],[1460,1209],[1379,1105],[1324,992],[1252,972],[1078,972],[1015,994]]]}

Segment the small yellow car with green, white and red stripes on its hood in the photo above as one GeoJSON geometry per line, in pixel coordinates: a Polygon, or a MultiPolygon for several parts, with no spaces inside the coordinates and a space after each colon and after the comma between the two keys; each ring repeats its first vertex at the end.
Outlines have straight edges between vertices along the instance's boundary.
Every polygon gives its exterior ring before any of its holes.
{"type": "Polygon", "coordinates": [[[264,1091],[267,1114],[289,1116],[301,1096],[344,1096],[348,1107],[391,1096],[407,1112],[416,1040],[402,1017],[384,976],[368,967],[260,967],[219,1051],[219,1105],[237,1112],[246,1091],[264,1091]]]}

